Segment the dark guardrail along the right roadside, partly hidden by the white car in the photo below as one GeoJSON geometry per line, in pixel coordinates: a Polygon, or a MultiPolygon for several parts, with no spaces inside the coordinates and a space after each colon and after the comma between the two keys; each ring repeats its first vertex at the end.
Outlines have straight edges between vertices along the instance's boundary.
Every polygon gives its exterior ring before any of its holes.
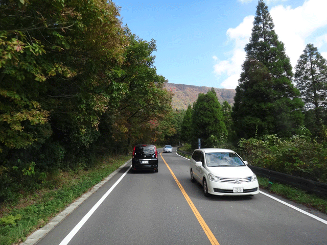
{"type": "MultiPolygon", "coordinates": [[[[180,153],[183,153],[185,155],[191,156],[192,153],[184,152],[177,150],[180,153]]],[[[327,184],[313,181],[313,180],[307,180],[304,178],[287,175],[283,173],[278,173],[276,171],[272,171],[269,169],[261,168],[261,167],[255,167],[248,165],[248,167],[253,171],[254,174],[268,178],[270,182],[275,181],[283,184],[288,184],[294,187],[297,187],[302,190],[307,190],[312,193],[322,195],[323,197],[327,197],[327,184]]]]}

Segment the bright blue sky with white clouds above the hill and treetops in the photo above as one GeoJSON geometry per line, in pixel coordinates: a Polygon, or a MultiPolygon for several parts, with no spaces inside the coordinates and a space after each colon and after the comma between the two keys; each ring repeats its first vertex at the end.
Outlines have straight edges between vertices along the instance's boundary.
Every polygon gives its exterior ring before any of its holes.
{"type": "MultiPolygon", "coordinates": [[[[123,25],[157,51],[168,82],[236,88],[258,0],[113,0],[123,25]]],[[[293,68],[308,43],[327,59],[326,0],[264,0],[293,68]]]]}

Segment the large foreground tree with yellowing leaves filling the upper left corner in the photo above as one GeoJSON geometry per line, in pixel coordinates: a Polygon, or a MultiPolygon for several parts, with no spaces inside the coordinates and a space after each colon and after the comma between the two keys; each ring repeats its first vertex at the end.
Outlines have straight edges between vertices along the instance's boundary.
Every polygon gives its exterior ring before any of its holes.
{"type": "Polygon", "coordinates": [[[41,146],[47,139],[60,142],[59,149],[63,145],[66,159],[68,152],[88,155],[99,136],[100,115],[121,92],[106,91],[123,58],[118,15],[103,0],[1,2],[2,158],[13,156],[12,149],[34,148],[30,154],[44,163],[41,146]]]}

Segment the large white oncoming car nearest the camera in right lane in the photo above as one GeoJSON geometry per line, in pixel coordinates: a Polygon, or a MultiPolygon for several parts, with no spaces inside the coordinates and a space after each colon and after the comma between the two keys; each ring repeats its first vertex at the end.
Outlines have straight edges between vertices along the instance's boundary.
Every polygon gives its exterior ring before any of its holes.
{"type": "Polygon", "coordinates": [[[213,195],[255,195],[259,183],[247,161],[231,150],[197,149],[190,159],[191,181],[203,186],[206,197],[213,195]]]}

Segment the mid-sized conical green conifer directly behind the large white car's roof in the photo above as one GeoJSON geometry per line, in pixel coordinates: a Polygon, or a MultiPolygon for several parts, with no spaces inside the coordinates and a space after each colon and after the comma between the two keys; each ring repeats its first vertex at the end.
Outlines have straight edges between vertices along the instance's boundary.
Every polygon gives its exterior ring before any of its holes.
{"type": "Polygon", "coordinates": [[[214,88],[206,94],[200,93],[193,107],[192,148],[197,148],[198,138],[201,139],[201,148],[213,147],[210,138],[220,141],[227,137],[223,113],[214,88]]]}

